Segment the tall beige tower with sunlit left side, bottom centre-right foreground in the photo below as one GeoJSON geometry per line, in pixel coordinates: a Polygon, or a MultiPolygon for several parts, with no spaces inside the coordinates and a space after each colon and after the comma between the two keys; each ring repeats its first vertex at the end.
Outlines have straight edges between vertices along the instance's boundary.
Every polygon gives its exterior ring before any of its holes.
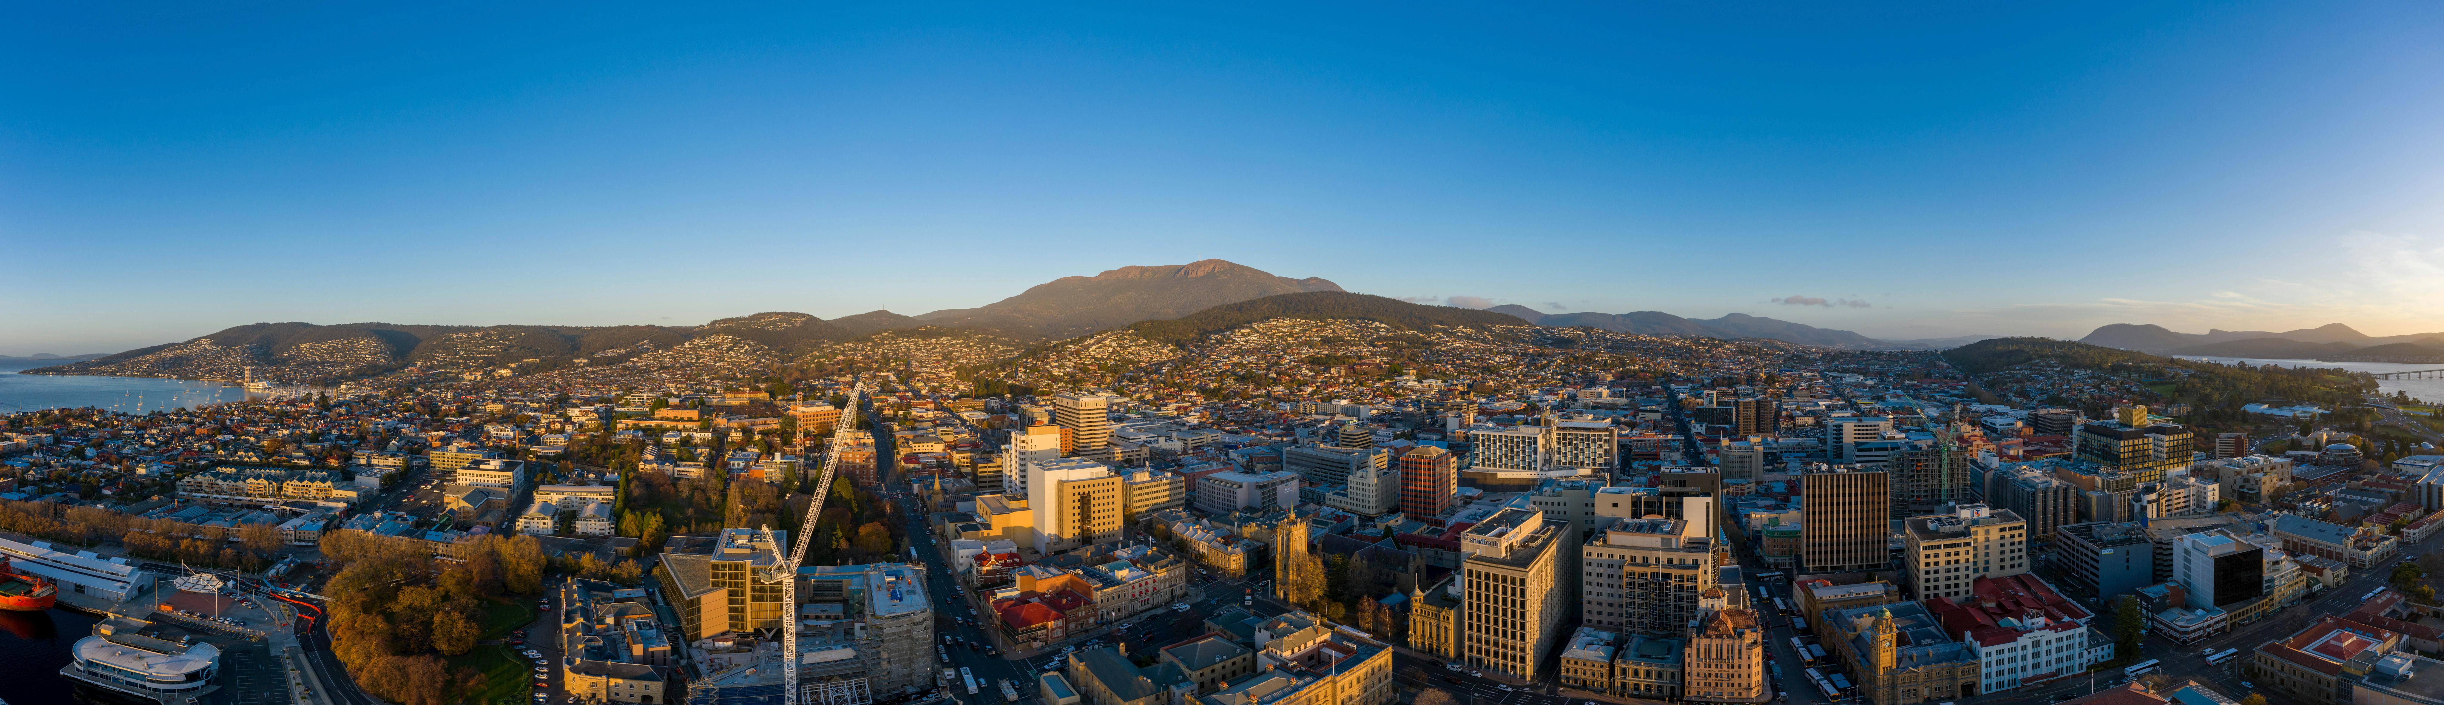
{"type": "Polygon", "coordinates": [[[1569,636],[1579,590],[1576,531],[1537,509],[1501,509],[1459,534],[1462,663],[1535,683],[1545,654],[1569,636]]]}

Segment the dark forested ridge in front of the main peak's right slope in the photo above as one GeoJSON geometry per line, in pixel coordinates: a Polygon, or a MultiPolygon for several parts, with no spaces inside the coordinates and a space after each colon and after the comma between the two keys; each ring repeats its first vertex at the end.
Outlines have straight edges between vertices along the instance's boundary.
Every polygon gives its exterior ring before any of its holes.
{"type": "Polygon", "coordinates": [[[1156,343],[1190,343],[1205,338],[1207,333],[1220,333],[1268,318],[1308,318],[1308,321],[1334,321],[1334,318],[1361,318],[1376,321],[1393,328],[1427,328],[1427,326],[1520,326],[1518,316],[1454,308],[1454,306],[1425,306],[1408,304],[1400,299],[1349,294],[1349,291],[1300,291],[1300,294],[1276,294],[1251,301],[1232,301],[1195,311],[1173,321],[1139,321],[1129,330],[1156,343]]]}

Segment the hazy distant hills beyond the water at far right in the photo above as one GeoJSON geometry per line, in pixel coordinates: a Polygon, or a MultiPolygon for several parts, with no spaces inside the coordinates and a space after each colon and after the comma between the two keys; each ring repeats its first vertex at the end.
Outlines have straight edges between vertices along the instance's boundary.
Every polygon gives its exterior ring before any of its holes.
{"type": "Polygon", "coordinates": [[[2324,362],[2444,362],[2444,333],[2368,335],[2344,323],[2300,330],[2173,333],[2153,323],[2112,323],[2080,343],[2158,355],[2324,360],[2324,362]]]}

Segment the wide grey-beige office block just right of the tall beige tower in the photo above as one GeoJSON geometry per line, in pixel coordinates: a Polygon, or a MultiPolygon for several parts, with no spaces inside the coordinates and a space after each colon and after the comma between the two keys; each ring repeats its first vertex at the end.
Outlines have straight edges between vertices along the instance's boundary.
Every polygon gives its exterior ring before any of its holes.
{"type": "Polygon", "coordinates": [[[1584,622],[1655,639],[1686,636],[1699,595],[1721,580],[1706,521],[1606,521],[1579,546],[1584,622]]]}

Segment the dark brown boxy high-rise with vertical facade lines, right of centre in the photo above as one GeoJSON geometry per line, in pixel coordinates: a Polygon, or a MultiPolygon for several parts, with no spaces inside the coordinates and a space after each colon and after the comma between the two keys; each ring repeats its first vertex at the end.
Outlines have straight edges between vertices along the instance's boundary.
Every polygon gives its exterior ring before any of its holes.
{"type": "Polygon", "coordinates": [[[1799,475],[1799,565],[1806,573],[1884,570],[1892,563],[1892,475],[1882,468],[1809,465],[1799,475]]]}

